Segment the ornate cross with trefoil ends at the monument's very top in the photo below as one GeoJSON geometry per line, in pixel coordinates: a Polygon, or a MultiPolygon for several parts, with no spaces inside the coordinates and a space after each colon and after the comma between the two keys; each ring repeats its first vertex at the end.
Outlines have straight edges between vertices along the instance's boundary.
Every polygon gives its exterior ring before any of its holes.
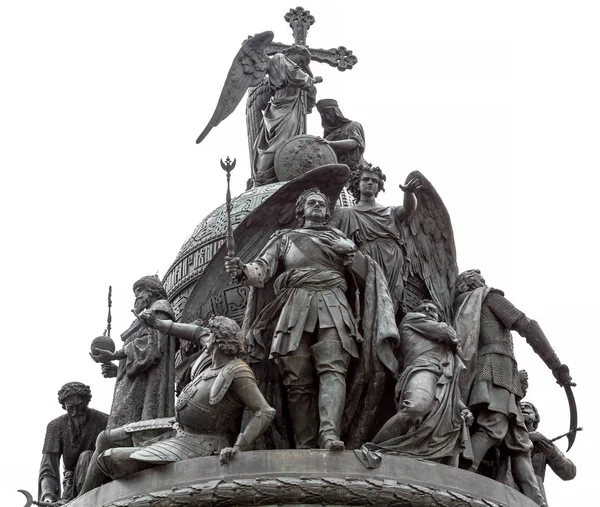
{"type": "MultiPolygon", "coordinates": [[[[340,46],[337,49],[315,49],[307,46],[306,35],[308,34],[311,25],[315,22],[315,18],[310,11],[303,9],[302,7],[296,7],[295,9],[290,9],[283,19],[285,19],[292,28],[294,45],[306,46],[310,51],[311,60],[337,67],[337,69],[342,72],[352,69],[358,62],[358,58],[352,54],[352,51],[346,49],[344,46],[340,46]]],[[[288,44],[272,42],[267,46],[266,52],[269,56],[272,56],[276,53],[282,53],[289,47],[291,46],[288,44]]],[[[304,114],[302,123],[302,132],[306,133],[306,113],[304,114]]]]}

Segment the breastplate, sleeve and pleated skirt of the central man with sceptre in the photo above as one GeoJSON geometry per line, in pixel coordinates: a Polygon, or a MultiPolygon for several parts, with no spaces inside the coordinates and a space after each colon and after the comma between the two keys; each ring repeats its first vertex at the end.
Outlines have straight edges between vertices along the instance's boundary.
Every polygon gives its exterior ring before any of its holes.
{"type": "Polygon", "coordinates": [[[344,262],[351,259],[354,244],[340,231],[328,227],[297,229],[276,235],[263,252],[244,269],[246,283],[262,287],[277,271],[275,300],[266,305],[249,330],[249,353],[258,360],[286,356],[296,350],[302,333],[335,328],[342,347],[358,357],[358,332],[346,299],[344,262]],[[324,237],[333,235],[333,245],[324,237]],[[263,332],[276,321],[273,340],[263,332]],[[318,324],[318,325],[317,325],[318,324]]]}

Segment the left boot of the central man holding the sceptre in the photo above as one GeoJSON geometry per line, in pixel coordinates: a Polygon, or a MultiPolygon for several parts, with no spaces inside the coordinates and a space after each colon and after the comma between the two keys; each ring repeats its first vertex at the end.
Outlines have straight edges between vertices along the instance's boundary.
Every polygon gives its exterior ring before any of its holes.
{"type": "Polygon", "coordinates": [[[296,449],[317,447],[317,379],[310,356],[284,356],[275,359],[281,372],[292,420],[296,449]]]}

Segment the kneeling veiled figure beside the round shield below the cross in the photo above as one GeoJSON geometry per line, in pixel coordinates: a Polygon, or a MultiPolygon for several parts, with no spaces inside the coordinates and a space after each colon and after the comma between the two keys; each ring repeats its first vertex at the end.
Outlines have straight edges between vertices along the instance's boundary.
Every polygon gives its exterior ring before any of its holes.
{"type": "Polygon", "coordinates": [[[321,115],[324,142],[333,148],[338,162],[346,164],[352,171],[366,164],[363,159],[366,142],[362,125],[346,118],[334,99],[319,100],[317,111],[321,115]]]}

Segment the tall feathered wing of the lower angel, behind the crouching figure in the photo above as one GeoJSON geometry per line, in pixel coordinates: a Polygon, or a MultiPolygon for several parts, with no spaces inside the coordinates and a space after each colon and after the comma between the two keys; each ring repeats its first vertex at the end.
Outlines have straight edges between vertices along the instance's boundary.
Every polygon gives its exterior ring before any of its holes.
{"type": "Polygon", "coordinates": [[[406,274],[409,280],[414,277],[425,284],[444,312],[444,319],[451,323],[453,288],[458,275],[452,222],[431,182],[419,171],[411,172],[406,182],[414,178],[421,180],[421,188],[415,192],[417,209],[402,223],[408,261],[406,274]]]}

